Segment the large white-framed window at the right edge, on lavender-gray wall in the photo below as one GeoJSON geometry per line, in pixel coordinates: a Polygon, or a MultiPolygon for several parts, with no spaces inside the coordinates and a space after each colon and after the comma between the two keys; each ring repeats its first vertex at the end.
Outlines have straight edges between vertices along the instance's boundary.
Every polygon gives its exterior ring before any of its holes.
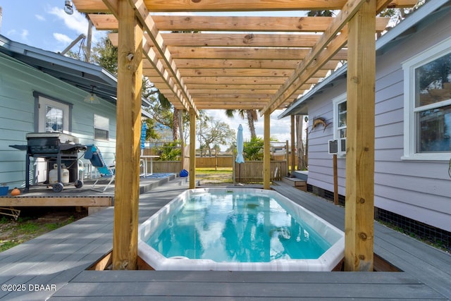
{"type": "Polygon", "coordinates": [[[451,39],[403,63],[404,157],[449,159],[451,39]]]}

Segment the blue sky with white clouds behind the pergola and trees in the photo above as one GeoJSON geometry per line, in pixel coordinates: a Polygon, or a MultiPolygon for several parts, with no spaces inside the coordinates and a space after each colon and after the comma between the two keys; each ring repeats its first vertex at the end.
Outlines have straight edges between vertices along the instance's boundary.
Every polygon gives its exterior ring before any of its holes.
{"type": "MultiPolygon", "coordinates": [[[[0,35],[39,49],[61,52],[80,34],[87,34],[85,16],[78,13],[75,6],[73,15],[68,15],[63,11],[63,6],[64,0],[0,0],[0,35]]],[[[104,35],[105,32],[94,30],[92,43],[95,44],[104,35]]],[[[78,52],[78,48],[79,44],[76,44],[71,50],[78,52]]],[[[250,139],[245,120],[228,118],[224,110],[207,110],[207,113],[216,120],[226,122],[235,133],[238,125],[242,124],[245,141],[250,139]]],[[[280,113],[282,111],[277,110],[271,114],[271,137],[285,142],[290,140],[290,118],[279,120],[280,113]]],[[[255,128],[257,136],[263,137],[263,117],[259,117],[255,128]]]]}

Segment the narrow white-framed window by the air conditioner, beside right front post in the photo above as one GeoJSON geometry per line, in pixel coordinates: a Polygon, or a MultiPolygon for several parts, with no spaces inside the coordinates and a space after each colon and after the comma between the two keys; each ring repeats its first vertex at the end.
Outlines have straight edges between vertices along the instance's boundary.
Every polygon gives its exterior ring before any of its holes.
{"type": "Polygon", "coordinates": [[[346,94],[333,99],[333,139],[338,140],[338,154],[346,154],[346,94]]]}

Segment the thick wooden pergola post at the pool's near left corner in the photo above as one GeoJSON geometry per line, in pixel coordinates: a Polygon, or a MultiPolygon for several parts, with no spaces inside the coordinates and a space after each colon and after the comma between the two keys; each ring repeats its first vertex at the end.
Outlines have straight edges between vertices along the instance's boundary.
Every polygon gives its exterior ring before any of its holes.
{"type": "Polygon", "coordinates": [[[118,100],[113,269],[137,269],[140,197],[142,26],[129,1],[118,1],[118,100]]]}

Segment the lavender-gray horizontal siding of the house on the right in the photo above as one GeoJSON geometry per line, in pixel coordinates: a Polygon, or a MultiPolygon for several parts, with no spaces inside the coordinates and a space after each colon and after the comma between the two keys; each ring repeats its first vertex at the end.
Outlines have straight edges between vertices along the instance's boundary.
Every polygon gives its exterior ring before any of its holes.
{"type": "MultiPolygon", "coordinates": [[[[375,206],[451,231],[451,178],[448,161],[402,160],[404,154],[404,73],[402,62],[450,37],[451,16],[418,28],[414,35],[376,57],[375,206]]],[[[345,92],[346,82],[309,101],[309,117],[332,121],[331,99],[345,92]]],[[[311,125],[310,125],[311,129],[311,125]]],[[[309,135],[310,185],[333,191],[332,155],[327,140],[332,127],[309,135]]],[[[451,158],[451,154],[450,154],[451,158]]],[[[338,159],[338,190],[345,195],[345,158],[338,159]]]]}

